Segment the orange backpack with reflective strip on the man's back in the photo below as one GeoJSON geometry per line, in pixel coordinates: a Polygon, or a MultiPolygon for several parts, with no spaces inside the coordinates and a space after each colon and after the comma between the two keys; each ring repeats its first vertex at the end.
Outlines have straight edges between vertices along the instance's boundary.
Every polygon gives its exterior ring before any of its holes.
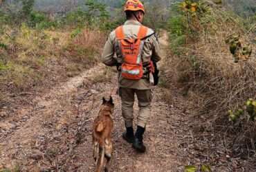
{"type": "Polygon", "coordinates": [[[147,36],[147,27],[141,25],[137,39],[126,39],[122,26],[116,29],[116,39],[122,54],[121,75],[130,80],[143,78],[142,52],[147,36]]]}

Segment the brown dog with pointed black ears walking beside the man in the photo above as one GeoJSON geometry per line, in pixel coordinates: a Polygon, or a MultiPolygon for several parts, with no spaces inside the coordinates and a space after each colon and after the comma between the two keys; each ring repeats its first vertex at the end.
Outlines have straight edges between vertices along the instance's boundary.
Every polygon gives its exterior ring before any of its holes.
{"type": "Polygon", "coordinates": [[[104,171],[109,171],[109,161],[112,153],[112,140],[111,132],[113,130],[113,120],[111,114],[113,114],[113,98],[109,100],[103,98],[103,103],[100,106],[100,112],[94,120],[93,124],[93,157],[96,164],[96,172],[102,171],[104,164],[104,157],[107,159],[107,164],[104,167],[104,171]]]}

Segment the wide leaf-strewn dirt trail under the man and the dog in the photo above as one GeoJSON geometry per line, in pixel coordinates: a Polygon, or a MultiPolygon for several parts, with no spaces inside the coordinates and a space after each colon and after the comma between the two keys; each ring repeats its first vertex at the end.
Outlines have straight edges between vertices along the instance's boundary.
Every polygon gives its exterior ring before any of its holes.
{"type": "MultiPolygon", "coordinates": [[[[165,54],[167,34],[160,40],[165,54]]],[[[116,74],[98,65],[14,111],[0,121],[0,169],[19,166],[21,171],[93,171],[91,125],[102,96],[112,94],[115,87],[116,74]]],[[[164,94],[162,88],[154,89],[145,154],[136,153],[120,137],[124,131],[120,98],[112,95],[116,108],[111,171],[183,171],[184,165],[207,159],[190,160],[195,149],[190,143],[196,140],[186,100],[173,88],[172,103],[167,105],[164,94]]],[[[135,107],[136,116],[138,105],[135,107]]]]}

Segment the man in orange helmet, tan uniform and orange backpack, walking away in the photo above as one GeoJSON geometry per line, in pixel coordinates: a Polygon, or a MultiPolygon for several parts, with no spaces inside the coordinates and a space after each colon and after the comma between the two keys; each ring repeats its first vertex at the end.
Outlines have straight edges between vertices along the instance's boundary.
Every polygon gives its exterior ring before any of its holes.
{"type": "Polygon", "coordinates": [[[152,86],[156,85],[156,62],[161,50],[154,30],[142,25],[145,8],[139,0],[125,3],[127,21],[109,34],[104,45],[102,62],[118,67],[119,96],[122,100],[122,117],[126,131],[122,138],[136,151],[144,153],[143,134],[150,117],[152,86]],[[114,57],[116,54],[116,57],[114,57]],[[154,83],[155,82],[155,83],[154,83]],[[138,123],[134,134],[134,96],[138,99],[138,123]]]}

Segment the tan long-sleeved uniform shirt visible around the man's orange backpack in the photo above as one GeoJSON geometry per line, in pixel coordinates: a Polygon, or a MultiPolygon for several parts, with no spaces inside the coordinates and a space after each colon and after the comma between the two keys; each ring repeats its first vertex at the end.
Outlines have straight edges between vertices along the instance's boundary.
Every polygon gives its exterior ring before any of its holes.
{"type": "MultiPolygon", "coordinates": [[[[140,28],[141,23],[134,20],[128,20],[123,25],[123,30],[125,33],[125,37],[127,39],[136,39],[138,30],[140,28]]],[[[154,34],[152,29],[147,31],[147,39],[145,39],[145,45],[143,47],[142,59],[143,64],[148,64],[150,60],[154,60],[156,62],[161,60],[161,50],[160,45],[158,43],[158,39],[154,34]]],[[[115,30],[109,34],[109,38],[104,45],[104,50],[102,53],[102,62],[108,66],[115,66],[121,59],[115,58],[114,55],[117,53],[116,51],[116,32],[115,30]]],[[[118,57],[121,54],[116,54],[118,57]]],[[[119,87],[125,88],[133,88],[133,89],[151,89],[151,84],[148,79],[140,79],[140,80],[129,80],[126,78],[122,78],[119,74],[118,76],[119,87]]]]}

